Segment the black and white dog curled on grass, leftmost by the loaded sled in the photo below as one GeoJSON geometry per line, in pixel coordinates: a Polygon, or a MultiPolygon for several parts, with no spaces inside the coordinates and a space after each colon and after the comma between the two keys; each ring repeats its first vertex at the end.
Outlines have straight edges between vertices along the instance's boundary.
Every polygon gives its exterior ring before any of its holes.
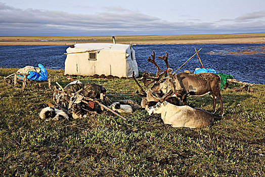
{"type": "Polygon", "coordinates": [[[39,113],[39,117],[41,119],[46,119],[45,121],[50,121],[51,119],[59,120],[61,118],[66,118],[67,120],[69,119],[68,115],[64,111],[54,107],[43,108],[39,113]]]}

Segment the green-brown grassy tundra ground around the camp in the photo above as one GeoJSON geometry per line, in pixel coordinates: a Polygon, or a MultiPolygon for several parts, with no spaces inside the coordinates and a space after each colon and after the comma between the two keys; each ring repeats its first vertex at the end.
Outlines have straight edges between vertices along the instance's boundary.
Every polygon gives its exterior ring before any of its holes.
{"type": "MultiPolygon", "coordinates": [[[[222,90],[225,116],[207,128],[164,126],[145,110],[77,120],[45,122],[40,103],[52,102],[47,85],[8,87],[0,68],[0,173],[3,176],[264,176],[265,85],[254,93],[222,90]]],[[[48,70],[52,84],[65,86],[63,70],[48,70]]],[[[107,94],[134,94],[131,79],[76,77],[103,85],[107,94]]],[[[112,99],[141,98],[123,97],[112,99]]],[[[188,98],[192,107],[212,109],[209,96],[188,98]]],[[[217,102],[217,112],[220,109],[217,102]]],[[[215,116],[215,118],[218,118],[215,116]]]]}

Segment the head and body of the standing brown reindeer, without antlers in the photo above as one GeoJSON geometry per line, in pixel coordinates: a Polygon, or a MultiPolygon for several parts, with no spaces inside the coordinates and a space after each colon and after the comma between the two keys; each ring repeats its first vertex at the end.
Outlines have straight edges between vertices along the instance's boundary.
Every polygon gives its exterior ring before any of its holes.
{"type": "Polygon", "coordinates": [[[154,92],[162,91],[167,93],[167,85],[171,78],[175,81],[176,96],[180,97],[183,105],[187,104],[187,97],[196,96],[201,97],[209,94],[213,99],[213,113],[216,112],[216,98],[220,101],[220,116],[224,115],[223,98],[220,95],[220,77],[214,73],[198,73],[189,74],[185,72],[173,73],[172,69],[168,68],[169,77],[161,78],[156,81],[151,87],[154,92]]]}

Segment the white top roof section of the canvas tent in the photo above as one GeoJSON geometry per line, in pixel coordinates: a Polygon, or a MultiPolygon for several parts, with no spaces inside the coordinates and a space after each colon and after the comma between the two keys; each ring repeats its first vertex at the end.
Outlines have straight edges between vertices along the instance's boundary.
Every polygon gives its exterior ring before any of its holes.
{"type": "Polygon", "coordinates": [[[124,45],[121,43],[76,43],[75,49],[87,49],[87,50],[119,50],[126,51],[130,45],[124,45]]]}

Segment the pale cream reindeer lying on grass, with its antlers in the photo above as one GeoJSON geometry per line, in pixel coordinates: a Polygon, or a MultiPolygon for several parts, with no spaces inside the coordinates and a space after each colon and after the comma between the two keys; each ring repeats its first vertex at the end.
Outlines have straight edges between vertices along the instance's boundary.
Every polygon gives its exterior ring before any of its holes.
{"type": "Polygon", "coordinates": [[[202,109],[191,108],[189,106],[175,106],[168,103],[167,98],[174,94],[174,85],[171,78],[169,78],[170,89],[165,97],[158,97],[153,91],[149,90],[147,93],[147,101],[158,101],[155,106],[149,107],[147,112],[149,115],[153,113],[161,114],[164,124],[170,124],[173,127],[190,127],[203,128],[213,123],[213,116],[202,109]]]}

